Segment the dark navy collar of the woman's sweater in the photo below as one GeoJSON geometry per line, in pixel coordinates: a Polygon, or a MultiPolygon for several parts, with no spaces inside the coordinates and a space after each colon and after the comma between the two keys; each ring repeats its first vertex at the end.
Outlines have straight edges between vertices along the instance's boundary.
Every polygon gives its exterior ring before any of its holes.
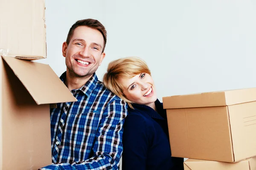
{"type": "MultiPolygon", "coordinates": [[[[156,105],[158,113],[154,109],[152,109],[151,107],[149,107],[147,105],[132,104],[134,109],[144,111],[144,113],[146,113],[151,118],[166,120],[166,111],[163,109],[163,104],[157,99],[155,101],[155,105],[156,105]]],[[[129,108],[129,109],[131,109],[131,108],[129,108]]]]}

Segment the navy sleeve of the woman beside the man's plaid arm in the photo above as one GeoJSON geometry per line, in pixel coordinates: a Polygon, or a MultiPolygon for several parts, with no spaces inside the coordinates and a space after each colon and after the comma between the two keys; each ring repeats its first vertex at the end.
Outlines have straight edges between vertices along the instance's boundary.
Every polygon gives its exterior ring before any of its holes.
{"type": "Polygon", "coordinates": [[[150,127],[138,114],[130,114],[125,119],[122,155],[122,170],[146,170],[150,127]]]}

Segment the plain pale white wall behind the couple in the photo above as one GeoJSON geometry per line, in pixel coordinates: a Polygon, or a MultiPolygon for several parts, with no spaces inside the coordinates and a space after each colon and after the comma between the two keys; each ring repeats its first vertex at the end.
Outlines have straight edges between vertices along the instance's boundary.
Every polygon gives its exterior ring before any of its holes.
{"type": "Polygon", "coordinates": [[[108,32],[96,72],[126,56],[143,58],[158,98],[256,87],[255,0],[46,0],[47,59],[66,70],[62,42],[76,20],[99,20],[108,32]]]}

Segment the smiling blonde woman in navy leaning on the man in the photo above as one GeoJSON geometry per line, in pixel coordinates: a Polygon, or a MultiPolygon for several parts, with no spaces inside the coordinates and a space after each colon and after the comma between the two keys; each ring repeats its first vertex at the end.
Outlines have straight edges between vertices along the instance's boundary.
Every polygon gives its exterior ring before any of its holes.
{"type": "Polygon", "coordinates": [[[122,170],[183,170],[183,158],[171,157],[166,111],[147,64],[138,57],[117,59],[108,65],[103,83],[129,105],[122,170]]]}

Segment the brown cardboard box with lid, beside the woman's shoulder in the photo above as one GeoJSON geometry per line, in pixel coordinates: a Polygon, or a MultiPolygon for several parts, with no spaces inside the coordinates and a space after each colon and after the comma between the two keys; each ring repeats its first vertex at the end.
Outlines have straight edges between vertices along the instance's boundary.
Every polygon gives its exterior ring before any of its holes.
{"type": "Polygon", "coordinates": [[[256,156],[256,88],[163,97],[172,156],[236,162],[256,156]]]}

